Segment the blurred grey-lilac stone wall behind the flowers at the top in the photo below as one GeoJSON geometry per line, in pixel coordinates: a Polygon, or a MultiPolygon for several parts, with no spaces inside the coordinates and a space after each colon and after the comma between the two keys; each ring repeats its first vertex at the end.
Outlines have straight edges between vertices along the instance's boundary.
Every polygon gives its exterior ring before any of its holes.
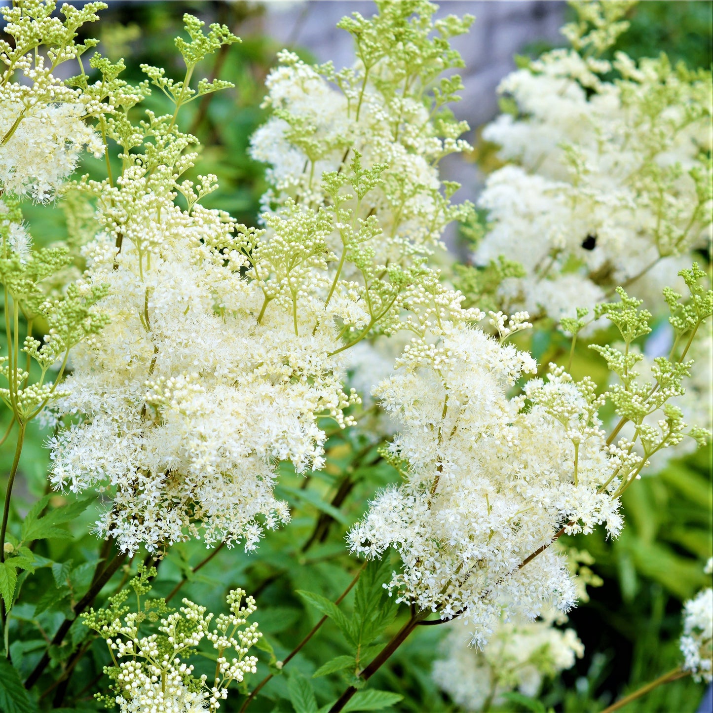
{"type": "MultiPolygon", "coordinates": [[[[453,46],[463,55],[460,70],[465,90],[463,100],[451,105],[458,119],[465,119],[472,129],[491,120],[498,112],[496,89],[503,76],[515,68],[513,55],[536,41],[561,43],[560,26],[564,22],[565,2],[559,0],[444,0],[436,16],[448,14],[476,16],[469,34],[453,39],[453,46]]],[[[267,33],[284,46],[304,47],[318,61],[331,59],[338,69],[354,62],[351,38],[336,27],[345,14],[359,12],[373,15],[376,7],[365,0],[268,1],[263,19],[267,33]]],[[[472,139],[473,132],[468,138],[472,139]]],[[[461,156],[451,156],[441,163],[444,178],[457,180],[463,188],[457,200],[476,200],[482,177],[475,164],[461,156]]],[[[453,232],[446,235],[453,245],[453,232]]]]}

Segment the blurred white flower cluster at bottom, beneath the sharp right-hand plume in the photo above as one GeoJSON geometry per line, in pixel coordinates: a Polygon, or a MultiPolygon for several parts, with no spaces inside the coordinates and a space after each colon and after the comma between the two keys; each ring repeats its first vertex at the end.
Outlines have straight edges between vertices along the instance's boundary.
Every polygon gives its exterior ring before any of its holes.
{"type": "Polygon", "coordinates": [[[551,620],[498,622],[483,650],[469,646],[457,623],[448,627],[433,677],[466,711],[505,704],[503,694],[515,689],[536,697],[544,679],[570,669],[584,655],[575,631],[558,629],[551,620]]]}

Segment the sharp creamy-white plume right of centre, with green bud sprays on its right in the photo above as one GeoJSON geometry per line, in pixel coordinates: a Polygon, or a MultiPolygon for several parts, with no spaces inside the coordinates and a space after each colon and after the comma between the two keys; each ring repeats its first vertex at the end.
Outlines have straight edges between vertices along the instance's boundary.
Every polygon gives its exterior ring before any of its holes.
{"type": "MultiPolygon", "coordinates": [[[[712,313],[713,293],[700,284],[697,265],[681,277],[689,300],[679,302],[672,290],[666,299],[677,344],[690,344],[712,313]]],[[[687,349],[656,359],[650,379],[635,382],[641,357],[630,344],[651,331],[651,315],[621,288],[619,296],[596,314],[626,344],[624,351],[597,346],[620,381],[605,394],[588,377],[575,382],[552,365],[547,378],[530,379],[513,395],[536,365],[506,339],[530,325],[526,313],[508,320],[493,312],[499,339],[469,325],[473,314],[429,319],[421,332],[414,325],[418,336],[396,361],[397,373],[375,389],[399,424],[389,460],[403,482],[371,502],[348,535],[352,551],[380,557],[394,548],[401,572],[389,588],[421,615],[462,617],[473,644],[485,645],[502,616],[532,620],[572,607],[575,585],[553,540],[600,523],[617,535],[619,496],[650,456],[685,435],[709,438],[667,403],[684,392],[687,349]],[[608,437],[598,415],[607,400],[621,419],[608,437]],[[631,438],[620,435],[628,423],[631,438]]]]}

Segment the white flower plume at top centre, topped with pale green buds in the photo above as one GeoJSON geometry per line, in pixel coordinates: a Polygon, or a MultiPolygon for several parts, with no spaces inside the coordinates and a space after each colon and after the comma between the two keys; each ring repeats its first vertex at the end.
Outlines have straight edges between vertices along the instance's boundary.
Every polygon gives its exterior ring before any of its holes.
{"type": "MultiPolygon", "coordinates": [[[[278,54],[281,66],[267,78],[263,103],[272,117],[255,132],[251,148],[253,158],[270,167],[274,189],[262,198],[265,210],[279,211],[290,200],[329,207],[322,174],[342,172],[347,157],[358,153],[380,174],[368,194],[357,188],[352,202],[354,217],[379,220],[383,235],[371,245],[376,262],[402,262],[404,245],[427,254],[439,243],[443,227],[461,212],[448,200],[456,184],[446,185],[443,196],[438,161],[470,147],[458,138],[467,123],[440,115],[443,103],[457,101],[460,78],[442,80],[434,97],[426,95],[439,72],[461,66],[457,53],[444,52],[429,34],[461,34],[473,19],[434,23],[433,12],[424,2],[393,3],[380,6],[371,21],[358,13],[345,18],[339,26],[354,34],[357,62],[340,72],[330,63],[310,66],[292,52],[278,54]],[[418,21],[411,19],[414,12],[418,21]]],[[[346,244],[344,232],[335,225],[330,247],[340,242],[346,244]]]]}

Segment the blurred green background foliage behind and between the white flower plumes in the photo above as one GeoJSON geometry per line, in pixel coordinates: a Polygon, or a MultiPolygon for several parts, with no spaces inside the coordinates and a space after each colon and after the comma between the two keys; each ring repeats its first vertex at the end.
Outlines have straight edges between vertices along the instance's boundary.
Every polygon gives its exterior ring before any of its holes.
{"type": "MultiPolygon", "coordinates": [[[[344,11],[349,11],[347,2],[344,11]]],[[[265,118],[260,109],[263,83],[281,48],[270,39],[265,7],[247,2],[110,2],[100,24],[99,50],[112,61],[120,56],[130,57],[125,73],[128,81],[140,81],[138,66],[143,62],[164,66],[169,76],[181,78],[173,37],[180,34],[184,12],[227,24],[242,36],[241,44],[223,48],[203,68],[205,76],[228,79],[235,83],[235,89],[190,104],[180,116],[180,123],[184,130],[198,135],[203,144],[200,173],[215,173],[220,179],[220,190],[210,195],[207,205],[220,206],[241,222],[255,225],[265,181],[262,165],[250,158],[247,147],[252,131],[265,118]]],[[[713,4],[707,0],[642,2],[633,9],[631,29],[618,48],[635,57],[656,56],[664,51],[674,61],[680,59],[692,67],[709,67],[712,13],[713,4]]],[[[90,33],[92,30],[90,27],[90,33]]],[[[536,55],[545,48],[528,46],[523,52],[536,55]]],[[[293,49],[309,58],[309,51],[304,48],[293,49]]],[[[148,106],[157,112],[168,111],[158,91],[148,106]]],[[[81,167],[82,173],[95,170],[101,168],[91,159],[81,167]]],[[[66,223],[58,220],[61,210],[28,204],[25,211],[39,244],[66,237],[66,223]]],[[[569,342],[556,333],[535,332],[520,335],[519,339],[520,345],[533,349],[544,364],[563,363],[569,348],[569,342]]],[[[575,364],[575,376],[581,375],[577,371],[586,371],[595,378],[598,375],[600,385],[604,386],[607,372],[585,345],[578,347],[575,364]]],[[[21,487],[28,503],[47,491],[48,451],[43,441],[48,435],[48,431],[33,425],[26,441],[21,487]]],[[[209,610],[220,611],[228,589],[245,588],[257,598],[259,609],[255,619],[272,645],[275,659],[282,660],[321,616],[295,592],[317,591],[334,600],[347,588],[360,566],[347,556],[344,533],[364,512],[375,491],[397,479],[393,468],[379,456],[377,446],[379,443],[366,441],[356,431],[334,434],[328,441],[324,471],[304,478],[284,468],[277,491],[292,506],[292,523],[288,527],[270,533],[252,555],[246,555],[240,548],[206,550],[200,542],[174,545],[161,563],[155,594],[173,595],[174,605],[181,596],[195,597],[209,610]]],[[[0,450],[0,468],[4,472],[9,469],[11,456],[8,445],[0,450]]],[[[706,584],[703,564],[713,554],[711,460],[712,451],[708,447],[670,463],[659,475],[643,478],[630,488],[624,498],[627,525],[617,540],[607,540],[601,531],[587,538],[563,538],[565,544],[588,550],[594,556],[593,570],[603,584],[590,588],[590,601],[570,615],[571,625],[585,644],[585,656],[560,680],[548,684],[541,697],[545,707],[552,706],[565,713],[595,712],[677,665],[682,601],[706,584]]],[[[18,494],[21,496],[21,491],[18,494]]],[[[56,503],[64,499],[61,495],[55,498],[56,503]]],[[[55,561],[67,560],[69,565],[63,573],[39,569],[24,581],[25,594],[34,603],[15,608],[13,613],[20,626],[23,618],[29,621],[39,617],[48,630],[53,629],[71,611],[71,602],[86,589],[97,558],[91,524],[100,508],[101,496],[67,525],[76,535],[73,540],[40,543],[36,550],[40,555],[55,561]]],[[[136,559],[140,557],[137,555],[136,559]]],[[[350,594],[343,605],[347,612],[353,596],[350,594]]],[[[405,618],[406,612],[401,607],[389,632],[394,632],[405,618]]],[[[439,692],[430,675],[443,633],[443,627],[421,627],[396,652],[389,665],[374,676],[370,687],[403,697],[391,708],[377,709],[457,710],[439,692]]],[[[108,663],[108,653],[101,640],[86,638],[86,627],[74,625],[72,635],[76,642],[86,641],[90,655],[82,658],[69,677],[63,697],[66,705],[90,710],[95,707],[92,693],[102,687],[101,667],[108,663]]],[[[12,656],[14,660],[23,659],[22,674],[28,674],[34,667],[44,645],[44,639],[30,637],[15,641],[12,656]]],[[[327,622],[290,663],[289,669],[267,684],[250,710],[293,711],[289,681],[300,674],[311,677],[323,662],[346,652],[339,631],[332,622],[327,622]]],[[[54,666],[66,665],[66,652],[51,653],[54,666]]],[[[269,672],[269,658],[263,655],[264,662],[257,675],[250,679],[250,689],[269,672]]],[[[213,666],[207,659],[193,663],[198,672],[205,667],[210,673],[213,666]]],[[[332,674],[313,679],[320,702],[337,697],[344,687],[344,678],[332,674]]],[[[624,711],[692,713],[702,693],[701,684],[681,679],[656,689],[624,711]]],[[[55,694],[46,691],[43,704],[56,700],[55,694]]],[[[225,710],[239,710],[242,700],[233,695],[225,710]]],[[[535,704],[515,701],[503,708],[528,709],[540,710],[535,704]]]]}

